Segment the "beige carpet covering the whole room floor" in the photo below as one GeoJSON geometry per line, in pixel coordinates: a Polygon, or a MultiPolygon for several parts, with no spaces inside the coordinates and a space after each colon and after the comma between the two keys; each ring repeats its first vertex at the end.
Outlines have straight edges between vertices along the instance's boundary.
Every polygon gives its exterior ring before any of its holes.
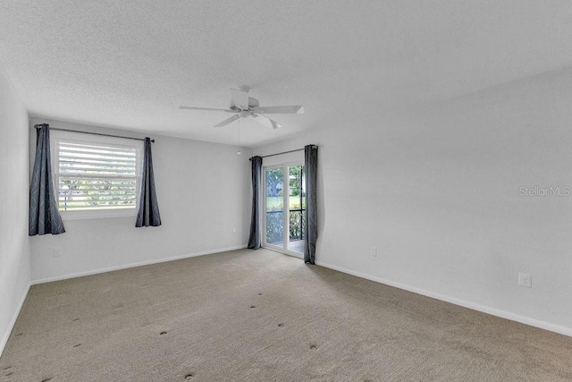
{"type": "Polygon", "coordinates": [[[572,380],[572,338],[269,250],[33,286],[0,381],[572,380]]]}

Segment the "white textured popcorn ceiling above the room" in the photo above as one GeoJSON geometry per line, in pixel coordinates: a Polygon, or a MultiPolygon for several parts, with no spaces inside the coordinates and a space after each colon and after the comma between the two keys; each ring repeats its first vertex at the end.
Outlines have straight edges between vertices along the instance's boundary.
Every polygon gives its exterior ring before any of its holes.
{"type": "Polygon", "coordinates": [[[569,1],[0,2],[0,64],[30,115],[236,144],[227,107],[248,86],[273,131],[257,146],[572,64],[569,1]]]}

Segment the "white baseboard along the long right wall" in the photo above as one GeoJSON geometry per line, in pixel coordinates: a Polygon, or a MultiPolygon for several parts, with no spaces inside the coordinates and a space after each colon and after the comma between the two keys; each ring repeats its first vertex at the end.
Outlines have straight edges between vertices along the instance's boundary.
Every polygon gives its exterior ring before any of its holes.
{"type": "Polygon", "coordinates": [[[363,274],[360,272],[356,272],[353,270],[349,270],[349,269],[346,269],[343,267],[332,266],[331,264],[327,264],[327,263],[324,263],[322,261],[319,261],[319,262],[316,261],[315,264],[320,266],[320,267],[331,268],[333,270],[337,270],[337,271],[340,271],[342,273],[347,273],[347,274],[352,275],[352,276],[365,278],[367,280],[371,280],[371,281],[374,281],[377,283],[394,286],[396,288],[400,288],[400,289],[403,289],[403,290],[408,291],[408,292],[422,294],[424,296],[431,297],[431,298],[436,299],[436,300],[446,301],[446,302],[450,302],[450,303],[455,304],[455,305],[460,305],[460,306],[468,308],[468,309],[482,311],[484,313],[491,314],[492,316],[497,316],[500,318],[506,318],[506,319],[509,319],[511,321],[517,321],[517,322],[520,322],[521,324],[530,325],[531,327],[540,327],[541,329],[550,330],[551,332],[559,333],[560,335],[572,336],[572,328],[570,328],[570,327],[562,327],[559,325],[554,325],[554,324],[551,324],[549,322],[541,321],[541,320],[534,319],[534,318],[528,318],[525,316],[520,316],[520,315],[517,315],[514,313],[510,313],[510,312],[505,311],[505,310],[498,310],[498,309],[491,308],[491,307],[488,307],[485,305],[477,304],[475,302],[460,300],[458,298],[450,297],[450,296],[447,296],[445,294],[433,293],[430,291],[426,291],[425,289],[416,288],[415,286],[409,286],[406,284],[396,283],[394,281],[386,280],[386,279],[381,278],[381,277],[369,276],[369,275],[366,275],[366,274],[363,274]]]}

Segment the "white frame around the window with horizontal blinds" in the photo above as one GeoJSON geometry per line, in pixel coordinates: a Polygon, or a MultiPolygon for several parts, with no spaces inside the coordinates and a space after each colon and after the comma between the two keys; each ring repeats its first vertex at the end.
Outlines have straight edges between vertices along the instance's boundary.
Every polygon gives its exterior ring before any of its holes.
{"type": "Polygon", "coordinates": [[[50,132],[50,155],[52,163],[52,177],[54,182],[54,189],[56,198],[59,190],[60,183],[60,163],[59,163],[59,143],[60,141],[67,141],[82,144],[107,144],[121,148],[135,149],[136,161],[136,203],[135,208],[101,208],[97,210],[58,210],[63,220],[79,220],[79,219],[97,219],[106,217],[122,217],[122,216],[137,216],[137,206],[139,206],[139,191],[141,188],[141,171],[143,162],[143,141],[130,140],[125,138],[108,137],[101,135],[94,135],[83,132],[65,132],[62,130],[53,130],[50,132]]]}

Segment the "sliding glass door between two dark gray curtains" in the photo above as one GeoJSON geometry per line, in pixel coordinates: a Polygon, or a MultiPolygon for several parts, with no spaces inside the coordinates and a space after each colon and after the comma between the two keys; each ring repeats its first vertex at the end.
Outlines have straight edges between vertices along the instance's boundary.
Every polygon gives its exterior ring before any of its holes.
{"type": "Polygon", "coordinates": [[[265,247],[301,257],[306,239],[304,166],[267,166],[264,178],[265,247]]]}

